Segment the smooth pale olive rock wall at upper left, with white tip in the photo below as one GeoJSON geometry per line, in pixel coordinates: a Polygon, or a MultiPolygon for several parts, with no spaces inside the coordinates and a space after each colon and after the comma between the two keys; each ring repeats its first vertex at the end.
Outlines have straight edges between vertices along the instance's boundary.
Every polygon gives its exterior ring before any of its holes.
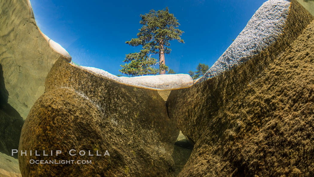
{"type": "Polygon", "coordinates": [[[29,0],[0,1],[0,64],[8,103],[25,119],[44,93],[45,78],[60,56],[71,60],[59,44],[42,34],[29,0]]]}

